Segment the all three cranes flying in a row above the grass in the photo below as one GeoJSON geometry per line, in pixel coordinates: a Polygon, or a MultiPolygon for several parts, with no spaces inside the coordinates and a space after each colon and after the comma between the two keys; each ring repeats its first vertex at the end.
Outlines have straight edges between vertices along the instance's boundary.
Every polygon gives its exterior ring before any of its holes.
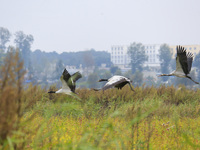
{"type": "MultiPolygon", "coordinates": [[[[193,54],[190,52],[186,52],[186,49],[182,46],[177,46],[177,56],[176,56],[176,70],[174,70],[171,74],[161,74],[159,76],[177,76],[181,78],[188,78],[192,80],[194,83],[199,84],[198,82],[194,81],[188,74],[192,68],[193,62],[193,54]]],[[[73,75],[70,75],[69,72],[64,69],[60,80],[62,82],[62,88],[58,91],[49,91],[48,93],[64,93],[68,95],[76,94],[76,81],[80,79],[82,75],[80,72],[76,72],[73,75]]],[[[109,88],[115,87],[118,89],[122,89],[126,84],[129,84],[132,91],[133,88],[131,86],[131,80],[124,76],[115,75],[110,79],[100,79],[99,82],[107,81],[101,89],[94,89],[95,91],[99,90],[107,90],[109,88]]]]}

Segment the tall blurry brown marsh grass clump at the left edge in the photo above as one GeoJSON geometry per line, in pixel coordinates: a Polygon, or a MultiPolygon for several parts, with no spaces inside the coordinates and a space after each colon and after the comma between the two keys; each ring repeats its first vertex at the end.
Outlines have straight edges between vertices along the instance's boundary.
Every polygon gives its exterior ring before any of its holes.
{"type": "Polygon", "coordinates": [[[7,53],[0,69],[0,148],[23,149],[24,127],[31,118],[24,119],[23,116],[38,98],[41,99],[42,90],[36,86],[24,90],[25,71],[17,50],[11,49],[7,53]]]}

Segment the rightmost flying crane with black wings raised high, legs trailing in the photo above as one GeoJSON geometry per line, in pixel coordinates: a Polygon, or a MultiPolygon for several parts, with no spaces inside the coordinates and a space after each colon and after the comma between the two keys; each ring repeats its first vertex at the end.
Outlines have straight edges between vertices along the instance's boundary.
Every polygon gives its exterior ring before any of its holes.
{"type": "Polygon", "coordinates": [[[192,80],[194,83],[199,84],[194,81],[188,74],[192,68],[193,54],[190,52],[186,52],[186,49],[182,46],[177,46],[177,56],[176,56],[176,70],[174,70],[171,74],[161,74],[160,76],[177,76],[180,78],[188,78],[192,80]]]}

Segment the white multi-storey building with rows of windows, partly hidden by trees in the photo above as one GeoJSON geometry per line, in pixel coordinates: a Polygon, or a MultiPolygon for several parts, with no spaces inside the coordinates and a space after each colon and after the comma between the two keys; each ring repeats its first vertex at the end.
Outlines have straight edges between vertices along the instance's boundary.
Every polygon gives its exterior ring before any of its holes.
{"type": "MultiPolygon", "coordinates": [[[[145,44],[145,54],[148,56],[148,60],[144,63],[144,66],[160,67],[159,61],[159,44],[145,44]]],[[[127,45],[114,45],[111,46],[111,62],[120,68],[130,68],[130,57],[128,56],[127,45]]]]}

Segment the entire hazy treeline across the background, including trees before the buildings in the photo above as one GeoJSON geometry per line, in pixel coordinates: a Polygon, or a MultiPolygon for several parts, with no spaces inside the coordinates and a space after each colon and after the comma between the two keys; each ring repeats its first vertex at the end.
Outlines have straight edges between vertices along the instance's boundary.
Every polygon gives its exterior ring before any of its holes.
{"type": "MultiPolygon", "coordinates": [[[[39,83],[43,85],[51,85],[53,82],[59,81],[60,75],[65,67],[72,69],[71,73],[81,71],[83,78],[80,80],[81,87],[95,88],[99,78],[109,78],[113,75],[124,75],[133,80],[134,86],[145,85],[160,85],[162,83],[168,85],[191,85],[193,83],[188,80],[173,77],[156,78],[152,76],[143,77],[144,71],[152,71],[150,67],[144,67],[147,61],[145,47],[142,43],[131,43],[128,47],[128,55],[130,56],[130,70],[124,71],[113,66],[110,53],[106,51],[95,51],[90,49],[79,52],[44,52],[40,49],[31,50],[34,42],[32,35],[24,34],[23,31],[18,31],[11,34],[8,29],[0,27],[0,66],[3,63],[3,58],[10,50],[18,50],[20,58],[24,62],[24,69],[26,70],[25,78],[28,82],[39,83]],[[14,46],[7,46],[10,42],[11,36],[14,35],[14,46]],[[106,69],[100,67],[107,67],[106,69]]],[[[158,73],[170,73],[176,68],[176,60],[172,59],[170,47],[167,44],[162,44],[159,50],[160,68],[158,73]]],[[[197,78],[200,81],[200,54],[197,54],[193,68],[191,71],[192,78],[197,78]]]]}

